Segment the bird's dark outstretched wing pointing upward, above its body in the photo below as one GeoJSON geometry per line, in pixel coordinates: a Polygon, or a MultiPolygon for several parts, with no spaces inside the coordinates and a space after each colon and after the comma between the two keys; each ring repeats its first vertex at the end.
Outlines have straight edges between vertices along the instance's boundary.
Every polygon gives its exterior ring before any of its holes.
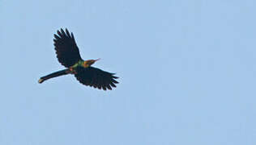
{"type": "Polygon", "coordinates": [[[61,29],[57,31],[58,35],[54,34],[54,46],[58,61],[66,68],[82,60],[79,48],[75,44],[75,37],[66,29],[66,32],[61,29]]]}

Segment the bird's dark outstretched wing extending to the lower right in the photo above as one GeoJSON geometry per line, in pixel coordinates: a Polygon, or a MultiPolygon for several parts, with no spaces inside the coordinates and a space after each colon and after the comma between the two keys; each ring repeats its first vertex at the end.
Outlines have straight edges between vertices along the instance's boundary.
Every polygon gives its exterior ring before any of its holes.
{"type": "Polygon", "coordinates": [[[113,76],[114,73],[105,72],[99,68],[83,68],[78,67],[76,69],[75,77],[83,85],[93,86],[98,89],[112,89],[116,87],[118,82],[115,80],[118,77],[113,76]]]}

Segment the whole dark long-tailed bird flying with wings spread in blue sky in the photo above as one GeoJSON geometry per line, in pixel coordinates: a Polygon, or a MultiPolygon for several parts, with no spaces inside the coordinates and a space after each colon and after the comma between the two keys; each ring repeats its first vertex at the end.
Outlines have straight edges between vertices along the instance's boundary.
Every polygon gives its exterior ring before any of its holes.
{"type": "Polygon", "coordinates": [[[83,85],[87,85],[96,89],[112,90],[116,87],[115,84],[119,82],[116,80],[118,77],[114,76],[116,73],[109,73],[101,70],[100,68],[92,67],[96,60],[83,60],[80,56],[79,48],[75,43],[73,33],[61,28],[57,34],[53,35],[54,49],[58,58],[58,62],[66,67],[55,73],[50,73],[41,77],[38,83],[51,79],[53,77],[60,77],[67,74],[75,76],[76,80],[83,85]]]}

